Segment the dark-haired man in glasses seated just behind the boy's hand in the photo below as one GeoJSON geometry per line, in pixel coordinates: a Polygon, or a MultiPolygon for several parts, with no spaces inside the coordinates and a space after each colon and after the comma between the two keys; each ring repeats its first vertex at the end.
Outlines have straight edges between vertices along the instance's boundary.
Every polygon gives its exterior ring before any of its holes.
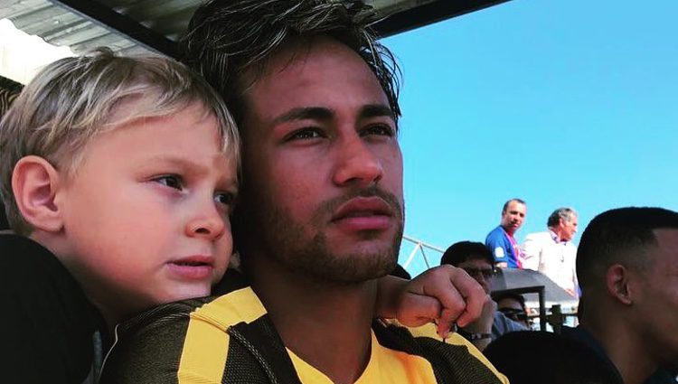
{"type": "MultiPolygon", "coordinates": [[[[494,258],[483,243],[460,241],[452,244],[440,259],[440,265],[446,264],[464,269],[483,287],[485,294],[490,294],[494,276],[494,258]]],[[[527,329],[523,324],[516,323],[497,311],[497,304],[488,300],[480,318],[461,328],[459,333],[483,351],[487,344],[502,334],[527,329]]]]}

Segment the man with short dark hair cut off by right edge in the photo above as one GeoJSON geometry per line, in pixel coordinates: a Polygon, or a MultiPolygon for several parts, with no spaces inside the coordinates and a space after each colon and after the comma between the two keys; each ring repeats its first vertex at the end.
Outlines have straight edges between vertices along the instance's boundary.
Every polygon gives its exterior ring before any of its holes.
{"type": "MultiPolygon", "coordinates": [[[[598,370],[610,372],[617,384],[674,383],[668,372],[678,361],[678,212],[599,214],[579,241],[577,276],[579,327],[563,327],[563,337],[594,351],[598,370]]],[[[524,345],[513,339],[514,346],[524,345]]],[[[551,348],[533,346],[520,360],[551,348]]]]}

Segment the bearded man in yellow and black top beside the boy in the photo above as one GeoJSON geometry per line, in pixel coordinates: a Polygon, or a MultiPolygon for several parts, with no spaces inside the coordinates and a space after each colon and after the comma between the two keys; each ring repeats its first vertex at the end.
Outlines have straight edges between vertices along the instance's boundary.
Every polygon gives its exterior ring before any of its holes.
{"type": "Polygon", "coordinates": [[[118,351],[138,354],[107,364],[148,372],[113,382],[504,380],[457,334],[445,343],[373,322],[375,279],[396,265],[403,200],[392,55],[365,30],[366,11],[297,0],[196,11],[185,57],[240,126],[233,229],[248,279],[146,315],[167,314],[162,326],[137,319],[118,351]]]}

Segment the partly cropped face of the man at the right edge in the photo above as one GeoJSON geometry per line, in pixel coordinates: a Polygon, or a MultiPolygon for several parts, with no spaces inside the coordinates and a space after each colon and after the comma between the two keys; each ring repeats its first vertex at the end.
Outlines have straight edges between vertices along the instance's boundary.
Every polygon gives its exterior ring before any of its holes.
{"type": "Polygon", "coordinates": [[[634,301],[637,332],[658,363],[678,361],[678,229],[655,229],[657,247],[647,248],[649,265],[638,278],[634,301]]]}

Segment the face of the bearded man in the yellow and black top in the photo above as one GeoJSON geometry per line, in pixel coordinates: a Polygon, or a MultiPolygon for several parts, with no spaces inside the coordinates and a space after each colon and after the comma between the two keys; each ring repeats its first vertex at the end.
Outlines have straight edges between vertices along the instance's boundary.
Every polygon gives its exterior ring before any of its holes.
{"type": "Polygon", "coordinates": [[[357,54],[327,39],[308,48],[279,52],[245,96],[245,236],[306,276],[364,281],[391,271],[400,247],[396,123],[357,54]]]}

